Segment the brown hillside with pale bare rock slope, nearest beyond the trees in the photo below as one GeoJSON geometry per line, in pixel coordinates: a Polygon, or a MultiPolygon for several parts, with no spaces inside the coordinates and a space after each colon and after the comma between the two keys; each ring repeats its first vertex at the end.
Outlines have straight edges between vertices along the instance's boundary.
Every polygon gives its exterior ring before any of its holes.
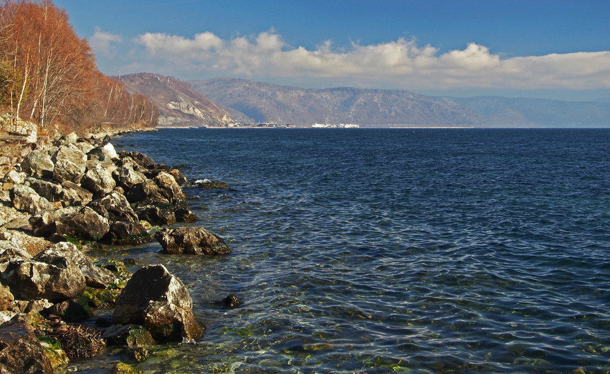
{"type": "MultiPolygon", "coordinates": [[[[115,77],[117,79],[117,77],[115,77]]],[[[148,96],[159,108],[159,127],[209,126],[234,122],[231,115],[212,100],[174,77],[152,73],[120,77],[130,93],[148,96]]]]}

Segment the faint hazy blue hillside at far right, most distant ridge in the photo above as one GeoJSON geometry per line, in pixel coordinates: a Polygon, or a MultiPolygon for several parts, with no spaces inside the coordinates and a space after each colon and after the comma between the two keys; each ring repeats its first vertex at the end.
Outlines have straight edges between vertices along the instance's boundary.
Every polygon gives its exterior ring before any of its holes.
{"type": "Polygon", "coordinates": [[[474,110],[492,127],[610,127],[610,102],[476,96],[447,98],[474,110]]]}

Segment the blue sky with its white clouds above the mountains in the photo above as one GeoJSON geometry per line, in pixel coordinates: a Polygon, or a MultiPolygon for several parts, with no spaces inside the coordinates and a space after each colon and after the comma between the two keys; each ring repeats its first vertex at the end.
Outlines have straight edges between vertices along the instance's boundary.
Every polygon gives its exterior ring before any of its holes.
{"type": "Polygon", "coordinates": [[[610,99],[610,0],[55,0],[109,75],[610,99]]]}

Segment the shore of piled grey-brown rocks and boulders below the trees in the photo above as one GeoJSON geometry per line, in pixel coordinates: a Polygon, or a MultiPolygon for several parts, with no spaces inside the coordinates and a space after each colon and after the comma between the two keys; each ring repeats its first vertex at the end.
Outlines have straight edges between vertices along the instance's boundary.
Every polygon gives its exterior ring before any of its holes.
{"type": "MultiPolygon", "coordinates": [[[[95,357],[106,346],[142,361],[148,345],[201,337],[188,290],[162,264],[131,274],[124,262],[86,254],[100,243],[151,240],[170,254],[228,254],[204,228],[162,228],[197,220],[181,171],[135,151],[117,153],[103,134],[24,149],[7,157],[0,174],[0,372],[63,372],[70,359],[95,357]],[[112,318],[81,325],[96,308],[113,308],[112,318]]],[[[123,363],[109,368],[137,372],[123,363]]]]}

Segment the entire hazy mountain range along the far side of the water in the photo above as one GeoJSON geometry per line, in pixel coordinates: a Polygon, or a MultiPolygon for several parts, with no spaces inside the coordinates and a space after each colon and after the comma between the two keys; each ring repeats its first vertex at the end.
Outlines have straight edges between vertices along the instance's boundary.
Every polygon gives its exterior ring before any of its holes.
{"type": "Polygon", "coordinates": [[[610,127],[610,101],[501,96],[432,97],[406,90],[299,88],[238,78],[185,82],[152,73],[120,77],[159,107],[159,126],[356,123],[361,127],[610,127]]]}

